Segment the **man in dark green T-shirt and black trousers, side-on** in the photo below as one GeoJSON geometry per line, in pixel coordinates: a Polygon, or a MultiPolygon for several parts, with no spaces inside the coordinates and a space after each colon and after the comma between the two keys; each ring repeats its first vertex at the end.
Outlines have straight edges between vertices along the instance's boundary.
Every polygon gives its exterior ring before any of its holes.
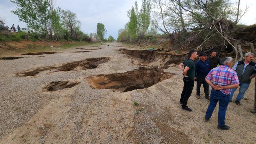
{"type": "Polygon", "coordinates": [[[188,98],[191,96],[193,87],[194,87],[194,75],[195,75],[195,66],[194,59],[197,58],[196,50],[190,50],[189,57],[184,62],[182,62],[179,67],[183,71],[183,91],[181,93],[180,103],[182,104],[181,108],[183,110],[192,111],[187,106],[188,98]],[[184,66],[184,68],[183,68],[184,66]]]}

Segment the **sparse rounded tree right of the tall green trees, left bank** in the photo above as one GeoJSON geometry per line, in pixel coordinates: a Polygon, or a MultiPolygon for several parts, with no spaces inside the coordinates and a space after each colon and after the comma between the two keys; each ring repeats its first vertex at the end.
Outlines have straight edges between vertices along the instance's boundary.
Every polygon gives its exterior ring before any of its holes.
{"type": "Polygon", "coordinates": [[[81,22],[77,20],[76,14],[71,12],[70,10],[62,11],[62,19],[65,28],[70,31],[71,37],[74,38],[75,28],[79,27],[81,22]]]}

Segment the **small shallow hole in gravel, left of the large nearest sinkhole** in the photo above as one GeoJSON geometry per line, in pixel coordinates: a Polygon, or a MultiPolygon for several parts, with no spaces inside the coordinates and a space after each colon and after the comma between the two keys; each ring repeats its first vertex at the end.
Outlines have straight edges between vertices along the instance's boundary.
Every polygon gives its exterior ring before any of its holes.
{"type": "Polygon", "coordinates": [[[76,82],[76,81],[52,81],[50,82],[50,84],[46,85],[44,89],[47,89],[47,91],[63,90],[70,87],[74,87],[79,83],[80,82],[76,82]]]}

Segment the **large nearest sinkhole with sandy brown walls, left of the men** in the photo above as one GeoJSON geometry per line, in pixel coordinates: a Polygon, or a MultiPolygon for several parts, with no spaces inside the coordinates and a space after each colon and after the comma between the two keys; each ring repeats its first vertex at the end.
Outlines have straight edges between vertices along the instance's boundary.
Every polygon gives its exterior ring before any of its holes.
{"type": "Polygon", "coordinates": [[[93,75],[89,77],[88,82],[94,89],[113,89],[127,92],[150,87],[162,80],[171,78],[173,75],[157,67],[140,67],[126,73],[93,75]]]}

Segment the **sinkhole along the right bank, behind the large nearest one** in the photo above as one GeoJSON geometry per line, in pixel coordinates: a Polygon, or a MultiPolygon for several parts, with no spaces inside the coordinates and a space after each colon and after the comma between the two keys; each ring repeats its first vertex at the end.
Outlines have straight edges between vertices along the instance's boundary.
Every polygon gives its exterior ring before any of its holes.
{"type": "Polygon", "coordinates": [[[158,50],[118,49],[122,54],[130,55],[142,64],[153,64],[163,67],[167,64],[179,64],[186,58],[186,54],[160,53],[158,50]]]}

